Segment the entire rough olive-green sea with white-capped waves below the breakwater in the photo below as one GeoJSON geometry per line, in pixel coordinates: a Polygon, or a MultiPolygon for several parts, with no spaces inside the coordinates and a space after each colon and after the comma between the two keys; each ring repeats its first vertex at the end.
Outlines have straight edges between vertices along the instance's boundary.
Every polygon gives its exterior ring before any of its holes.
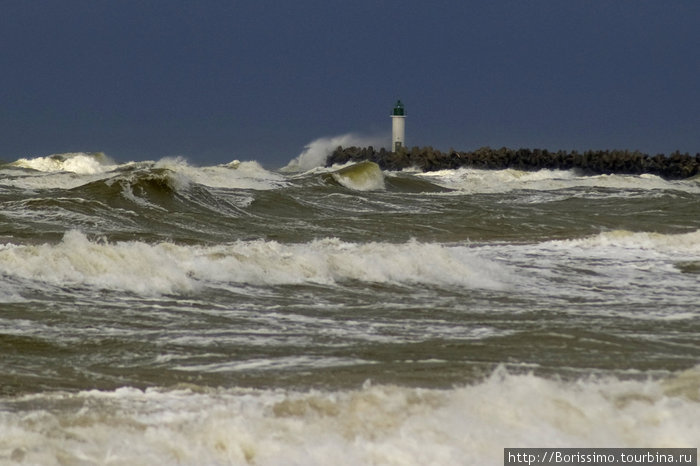
{"type": "Polygon", "coordinates": [[[697,447],[700,181],[0,165],[0,463],[697,447]]]}

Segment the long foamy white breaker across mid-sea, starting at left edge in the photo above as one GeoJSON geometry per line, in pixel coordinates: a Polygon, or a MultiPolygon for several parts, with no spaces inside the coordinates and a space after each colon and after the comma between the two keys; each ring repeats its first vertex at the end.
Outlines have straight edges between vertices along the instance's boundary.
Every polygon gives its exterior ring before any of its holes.
{"type": "Polygon", "coordinates": [[[323,239],[281,244],[257,240],[204,247],[106,243],[70,231],[58,244],[0,248],[0,273],[8,277],[139,294],[186,293],[219,283],[333,284],[347,280],[501,288],[507,270],[466,246],[416,241],[355,244],[323,239]]]}

